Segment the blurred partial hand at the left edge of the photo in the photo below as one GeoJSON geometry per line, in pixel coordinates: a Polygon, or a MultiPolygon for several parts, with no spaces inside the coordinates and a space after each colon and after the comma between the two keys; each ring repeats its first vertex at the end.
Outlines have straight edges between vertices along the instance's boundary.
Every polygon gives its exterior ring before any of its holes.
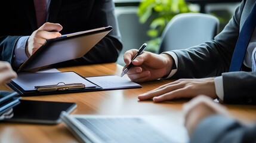
{"type": "Polygon", "coordinates": [[[0,84],[8,82],[10,79],[17,77],[16,72],[11,69],[10,63],[0,61],[0,84]]]}

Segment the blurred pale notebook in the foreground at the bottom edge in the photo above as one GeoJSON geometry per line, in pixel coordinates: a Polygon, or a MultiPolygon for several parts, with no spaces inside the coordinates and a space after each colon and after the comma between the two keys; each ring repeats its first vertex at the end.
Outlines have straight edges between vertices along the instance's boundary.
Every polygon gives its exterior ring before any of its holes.
{"type": "MultiPolygon", "coordinates": [[[[153,120],[149,122],[140,116],[68,115],[63,113],[61,119],[81,142],[187,142],[186,133],[181,132],[184,137],[177,140],[172,138],[175,134],[167,136],[162,133],[161,128],[152,125],[153,120]]],[[[169,130],[175,130],[175,128],[169,130]]]]}

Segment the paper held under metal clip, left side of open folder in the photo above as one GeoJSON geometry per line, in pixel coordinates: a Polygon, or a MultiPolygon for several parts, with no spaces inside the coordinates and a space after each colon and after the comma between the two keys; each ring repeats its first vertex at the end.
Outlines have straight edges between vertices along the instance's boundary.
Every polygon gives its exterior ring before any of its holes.
{"type": "Polygon", "coordinates": [[[24,89],[24,91],[33,91],[35,86],[48,86],[72,83],[83,83],[85,88],[95,87],[95,85],[84,77],[79,76],[73,71],[60,73],[19,73],[17,79],[12,79],[17,85],[24,89]]]}

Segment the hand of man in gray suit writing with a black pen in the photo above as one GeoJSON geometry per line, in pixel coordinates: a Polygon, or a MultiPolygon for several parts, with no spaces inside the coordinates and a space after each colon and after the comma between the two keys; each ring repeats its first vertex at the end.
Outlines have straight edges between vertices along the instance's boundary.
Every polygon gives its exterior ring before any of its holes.
{"type": "MultiPolygon", "coordinates": [[[[137,49],[131,49],[124,54],[126,66],[131,63],[131,59],[137,54],[137,49]]],[[[143,51],[132,61],[134,66],[127,72],[128,77],[134,82],[145,82],[156,80],[171,72],[172,58],[168,54],[153,54],[143,51]]]]}

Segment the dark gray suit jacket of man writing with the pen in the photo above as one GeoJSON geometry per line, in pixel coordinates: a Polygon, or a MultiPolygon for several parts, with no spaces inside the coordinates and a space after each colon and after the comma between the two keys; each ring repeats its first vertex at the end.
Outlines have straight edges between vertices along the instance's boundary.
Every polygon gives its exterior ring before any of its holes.
{"type": "Polygon", "coordinates": [[[189,49],[174,50],[178,57],[178,70],[172,78],[202,78],[222,75],[224,102],[255,103],[256,73],[251,71],[226,73],[229,71],[240,29],[251,13],[254,4],[255,0],[242,1],[233,18],[224,30],[215,36],[214,40],[189,49]]]}

